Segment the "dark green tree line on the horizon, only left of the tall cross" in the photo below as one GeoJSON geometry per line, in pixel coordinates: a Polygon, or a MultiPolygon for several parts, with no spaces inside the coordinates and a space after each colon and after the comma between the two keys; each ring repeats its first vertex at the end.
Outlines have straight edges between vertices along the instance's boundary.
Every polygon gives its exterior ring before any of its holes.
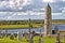
{"type": "Polygon", "coordinates": [[[0,25],[25,25],[27,22],[24,20],[0,20],[0,25]]]}

